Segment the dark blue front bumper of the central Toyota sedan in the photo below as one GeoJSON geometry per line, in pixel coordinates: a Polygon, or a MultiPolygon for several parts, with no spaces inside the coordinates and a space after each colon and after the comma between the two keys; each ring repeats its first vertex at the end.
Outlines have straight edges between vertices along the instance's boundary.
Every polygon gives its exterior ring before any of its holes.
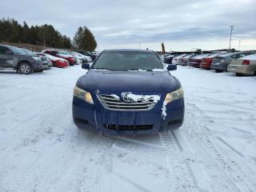
{"type": "Polygon", "coordinates": [[[180,98],[166,105],[166,117],[162,118],[160,100],[151,110],[107,110],[100,102],[91,105],[80,98],[73,99],[73,119],[79,128],[105,134],[155,134],[159,131],[182,126],[184,100],[180,98]],[[159,106],[158,106],[159,105],[159,106]]]}

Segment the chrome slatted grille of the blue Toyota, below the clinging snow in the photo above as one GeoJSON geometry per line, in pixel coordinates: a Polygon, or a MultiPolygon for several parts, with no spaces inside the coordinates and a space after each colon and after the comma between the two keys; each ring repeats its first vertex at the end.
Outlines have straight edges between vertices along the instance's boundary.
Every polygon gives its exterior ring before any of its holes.
{"type": "Polygon", "coordinates": [[[122,100],[110,94],[98,94],[98,100],[107,110],[151,110],[156,102],[154,98],[138,99],[138,102],[122,102],[122,100]]]}

